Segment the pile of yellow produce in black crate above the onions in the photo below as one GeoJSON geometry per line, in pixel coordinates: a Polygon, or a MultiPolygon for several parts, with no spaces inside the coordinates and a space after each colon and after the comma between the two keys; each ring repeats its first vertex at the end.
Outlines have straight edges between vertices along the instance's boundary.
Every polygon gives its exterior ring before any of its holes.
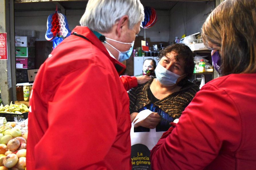
{"type": "Polygon", "coordinates": [[[28,112],[28,108],[25,104],[12,104],[5,105],[1,104],[0,106],[0,113],[15,113],[15,114],[22,114],[24,112],[28,112]]]}

